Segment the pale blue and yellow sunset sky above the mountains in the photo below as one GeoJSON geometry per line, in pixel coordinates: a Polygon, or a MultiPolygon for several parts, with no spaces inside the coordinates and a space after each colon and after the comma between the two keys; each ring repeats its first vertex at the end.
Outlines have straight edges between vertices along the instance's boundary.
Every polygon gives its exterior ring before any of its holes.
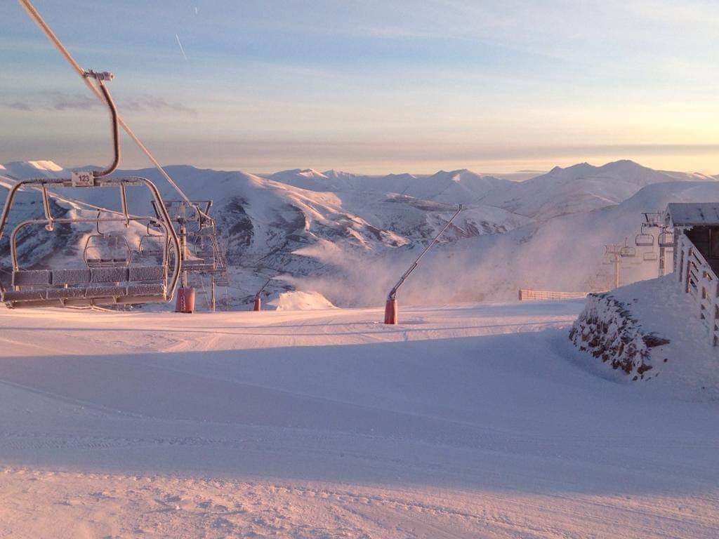
{"type": "MultiPolygon", "coordinates": [[[[429,173],[633,159],[719,172],[719,5],[35,0],[163,164],[429,173]]],[[[0,162],[110,160],[109,123],[0,3],[0,162]]],[[[124,140],[123,167],[147,158],[124,140]]]]}

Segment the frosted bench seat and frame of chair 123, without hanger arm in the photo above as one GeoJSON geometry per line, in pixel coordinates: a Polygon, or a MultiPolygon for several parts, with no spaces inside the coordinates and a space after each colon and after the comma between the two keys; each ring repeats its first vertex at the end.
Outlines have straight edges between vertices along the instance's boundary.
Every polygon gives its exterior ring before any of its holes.
{"type": "MultiPolygon", "coordinates": [[[[45,218],[33,218],[17,224],[9,235],[10,257],[12,259],[12,283],[9,290],[5,290],[0,283],[0,300],[9,308],[35,308],[35,307],[70,307],[88,305],[127,305],[135,303],[167,302],[172,299],[180,276],[182,261],[179,257],[171,257],[171,252],[179,252],[180,244],[173,229],[172,221],[165,211],[160,193],[150,180],[145,178],[95,178],[92,188],[120,188],[123,197],[122,214],[97,218],[85,218],[71,214],[69,217],[55,218],[50,213],[50,203],[47,200],[47,188],[52,186],[72,188],[74,185],[68,178],[37,178],[22,180],[16,183],[6,197],[5,206],[0,216],[0,237],[8,222],[8,214],[12,208],[17,191],[21,187],[40,188],[43,195],[45,218]],[[152,193],[160,217],[130,215],[126,208],[124,188],[127,185],[145,186],[152,193]],[[82,253],[85,267],[46,267],[36,270],[25,270],[18,264],[18,236],[27,226],[45,226],[48,231],[54,231],[58,225],[75,224],[86,226],[88,224],[112,223],[129,224],[138,222],[143,225],[152,223],[162,229],[162,251],[160,263],[138,261],[132,263],[132,252],[125,236],[98,234],[88,238],[86,249],[82,253]],[[108,237],[110,239],[108,239],[108,237]],[[91,239],[94,238],[94,239],[91,239]],[[103,239],[99,239],[103,238],[103,239]],[[92,249],[93,242],[107,242],[119,246],[122,255],[95,256],[92,249]],[[88,248],[89,247],[89,248],[88,248]]],[[[85,187],[83,187],[85,188],[85,187]]],[[[105,245],[106,247],[106,245],[105,245]]],[[[37,263],[36,263],[37,264],[37,263]]]]}

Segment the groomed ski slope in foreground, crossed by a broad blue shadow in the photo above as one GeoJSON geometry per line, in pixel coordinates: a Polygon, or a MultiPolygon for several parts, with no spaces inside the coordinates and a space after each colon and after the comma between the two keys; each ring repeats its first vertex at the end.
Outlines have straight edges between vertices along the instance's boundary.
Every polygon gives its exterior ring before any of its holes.
{"type": "Polygon", "coordinates": [[[719,403],[597,375],[582,305],[0,308],[0,537],[719,536],[719,403]]]}

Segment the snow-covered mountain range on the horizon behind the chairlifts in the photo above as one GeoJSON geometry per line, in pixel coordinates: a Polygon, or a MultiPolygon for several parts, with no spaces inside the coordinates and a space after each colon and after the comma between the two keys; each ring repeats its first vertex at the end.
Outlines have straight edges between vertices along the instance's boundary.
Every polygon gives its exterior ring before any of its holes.
{"type": "MultiPolygon", "coordinates": [[[[3,166],[0,199],[13,178],[69,174],[52,162],[3,166]]],[[[167,170],[191,198],[214,200],[233,295],[241,301],[268,276],[281,274],[267,289],[275,297],[296,287],[321,292],[335,305],[377,305],[459,203],[467,209],[407,282],[403,301],[508,299],[518,287],[600,290],[611,281],[611,267],[602,264],[603,245],[633,240],[642,211],[670,201],[719,199],[713,177],[630,161],[557,167],[523,182],[467,170],[424,176],[311,169],[253,175],[187,165],[167,170]]],[[[117,174],[145,176],[163,196],[178,198],[155,169],[117,174]]],[[[53,201],[58,212],[91,211],[80,202],[119,209],[114,190],[56,192],[63,197],[53,201]]],[[[23,193],[14,221],[40,212],[38,202],[23,193]]],[[[131,193],[131,203],[135,213],[151,212],[145,195],[131,193]]],[[[54,257],[69,263],[86,234],[24,236],[24,264],[54,257]]],[[[6,249],[6,238],[0,249],[6,249]]],[[[6,257],[0,264],[6,267],[6,257]]],[[[637,264],[623,272],[623,282],[653,272],[656,264],[637,264]]]]}

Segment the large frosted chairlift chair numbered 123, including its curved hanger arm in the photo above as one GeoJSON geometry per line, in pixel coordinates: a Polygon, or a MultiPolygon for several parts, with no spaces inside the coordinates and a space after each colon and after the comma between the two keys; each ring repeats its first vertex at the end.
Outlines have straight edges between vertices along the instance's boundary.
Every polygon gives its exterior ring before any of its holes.
{"type": "MultiPolygon", "coordinates": [[[[17,192],[22,188],[36,188],[42,193],[42,218],[22,221],[14,227],[10,236],[10,257],[12,259],[12,285],[6,290],[0,283],[0,300],[9,308],[33,307],[75,307],[88,305],[128,305],[135,303],[165,302],[173,298],[175,287],[180,277],[181,259],[180,242],[173,222],[170,219],[160,191],[155,184],[146,178],[109,178],[109,174],[119,165],[119,128],[118,116],[114,102],[104,85],[111,80],[110,73],[86,72],[87,78],[93,78],[109,106],[113,127],[114,161],[102,171],[73,172],[70,178],[34,178],[21,180],[10,188],[5,205],[0,214],[0,239],[9,222],[9,213],[14,205],[17,192]],[[157,216],[135,216],[129,213],[127,204],[127,188],[144,187],[150,190],[153,206],[157,216]],[[116,188],[119,190],[121,212],[112,212],[114,216],[83,218],[73,216],[56,218],[52,215],[48,188],[80,188],[102,189],[116,188]],[[27,270],[18,262],[18,236],[30,226],[45,226],[47,231],[56,231],[58,226],[76,226],[95,224],[99,230],[100,223],[124,224],[129,228],[131,223],[155,224],[162,230],[165,249],[162,263],[151,266],[135,266],[132,264],[93,267],[87,264],[88,245],[83,251],[83,265],[75,268],[42,267],[27,270]],[[170,252],[174,249],[175,257],[170,264],[170,252]]],[[[127,241],[127,239],[125,239],[127,241]]],[[[129,247],[128,247],[129,248],[129,247]]],[[[132,258],[132,257],[131,257],[132,258]]]]}

